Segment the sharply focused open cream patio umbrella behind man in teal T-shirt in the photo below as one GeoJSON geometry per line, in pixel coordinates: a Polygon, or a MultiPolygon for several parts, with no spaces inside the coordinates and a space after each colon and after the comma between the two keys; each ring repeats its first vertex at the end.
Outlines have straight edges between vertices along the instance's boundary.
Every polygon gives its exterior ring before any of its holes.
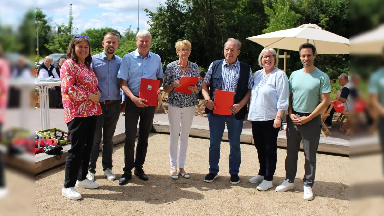
{"type": "MultiPolygon", "coordinates": [[[[303,43],[312,43],[317,54],[349,54],[349,39],[322,30],[316,24],[304,24],[296,28],[265,33],[247,38],[263,47],[299,51],[303,43]]],[[[284,59],[286,71],[286,58],[284,59]]]]}

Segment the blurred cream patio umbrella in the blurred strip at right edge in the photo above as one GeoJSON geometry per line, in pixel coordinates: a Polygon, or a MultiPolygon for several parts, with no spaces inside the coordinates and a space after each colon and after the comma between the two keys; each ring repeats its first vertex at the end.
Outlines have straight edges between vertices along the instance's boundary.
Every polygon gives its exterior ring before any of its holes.
{"type": "Polygon", "coordinates": [[[381,55],[384,47],[384,24],[351,38],[351,54],[381,55]]]}

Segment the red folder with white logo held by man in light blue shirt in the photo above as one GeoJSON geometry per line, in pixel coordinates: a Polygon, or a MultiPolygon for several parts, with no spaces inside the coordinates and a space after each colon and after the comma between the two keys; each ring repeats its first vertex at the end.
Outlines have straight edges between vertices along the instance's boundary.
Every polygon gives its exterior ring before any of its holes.
{"type": "Polygon", "coordinates": [[[157,106],[159,85],[160,80],[141,78],[139,98],[147,100],[147,102],[143,102],[144,104],[157,106]]]}

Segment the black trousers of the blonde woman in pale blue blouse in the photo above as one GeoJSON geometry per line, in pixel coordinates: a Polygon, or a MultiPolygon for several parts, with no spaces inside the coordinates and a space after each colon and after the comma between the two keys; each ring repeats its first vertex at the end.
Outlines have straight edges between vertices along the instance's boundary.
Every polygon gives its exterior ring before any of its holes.
{"type": "Polygon", "coordinates": [[[264,176],[266,181],[273,180],[277,164],[277,136],[280,128],[274,128],[273,121],[252,121],[253,140],[260,163],[259,175],[264,176]]]}

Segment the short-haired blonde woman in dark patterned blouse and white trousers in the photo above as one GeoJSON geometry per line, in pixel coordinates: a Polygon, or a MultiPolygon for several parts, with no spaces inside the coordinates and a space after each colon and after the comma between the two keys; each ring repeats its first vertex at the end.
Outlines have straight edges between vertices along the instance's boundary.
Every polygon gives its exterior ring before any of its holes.
{"type": "Polygon", "coordinates": [[[179,60],[167,65],[164,92],[168,95],[168,119],[170,128],[169,158],[170,158],[170,177],[178,179],[177,174],[177,143],[179,142],[179,173],[184,178],[189,178],[189,174],[184,170],[185,156],[187,155],[188,136],[192,126],[192,120],[197,105],[196,94],[200,91],[201,83],[198,81],[195,86],[188,86],[192,94],[174,92],[174,89],[180,87],[179,83],[182,76],[199,77],[199,66],[188,61],[191,52],[191,43],[188,40],[182,40],[176,43],[176,53],[179,60]],[[180,133],[181,123],[181,133],[180,133]]]}

